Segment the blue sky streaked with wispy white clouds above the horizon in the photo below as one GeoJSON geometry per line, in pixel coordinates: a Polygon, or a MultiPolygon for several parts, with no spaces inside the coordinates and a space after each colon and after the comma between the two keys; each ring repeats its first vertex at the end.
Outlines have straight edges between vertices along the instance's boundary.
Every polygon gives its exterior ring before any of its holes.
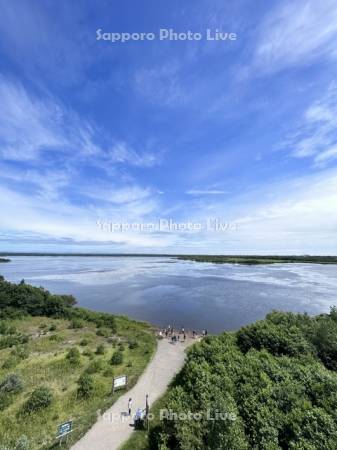
{"type": "Polygon", "coordinates": [[[1,250],[336,254],[336,39],[335,0],[0,1],[1,250]],[[228,227],[106,228],[161,219],[228,227]]]}

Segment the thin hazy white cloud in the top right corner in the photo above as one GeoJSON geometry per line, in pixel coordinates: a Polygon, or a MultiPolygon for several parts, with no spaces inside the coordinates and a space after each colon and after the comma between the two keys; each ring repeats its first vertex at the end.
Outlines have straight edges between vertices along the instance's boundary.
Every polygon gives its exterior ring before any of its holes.
{"type": "Polygon", "coordinates": [[[282,1],[262,22],[254,66],[262,72],[299,66],[316,57],[336,57],[335,0],[282,1]]]}

